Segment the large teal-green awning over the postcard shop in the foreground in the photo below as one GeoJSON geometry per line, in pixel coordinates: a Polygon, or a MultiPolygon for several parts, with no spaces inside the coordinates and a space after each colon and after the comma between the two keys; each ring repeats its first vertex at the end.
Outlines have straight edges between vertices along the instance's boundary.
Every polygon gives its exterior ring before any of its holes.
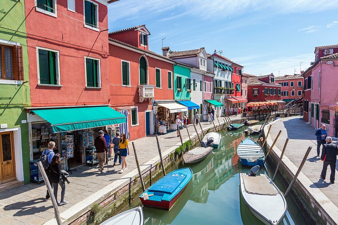
{"type": "Polygon", "coordinates": [[[52,125],[54,133],[101,127],[126,122],[126,117],[109,106],[33,109],[52,125]]]}

